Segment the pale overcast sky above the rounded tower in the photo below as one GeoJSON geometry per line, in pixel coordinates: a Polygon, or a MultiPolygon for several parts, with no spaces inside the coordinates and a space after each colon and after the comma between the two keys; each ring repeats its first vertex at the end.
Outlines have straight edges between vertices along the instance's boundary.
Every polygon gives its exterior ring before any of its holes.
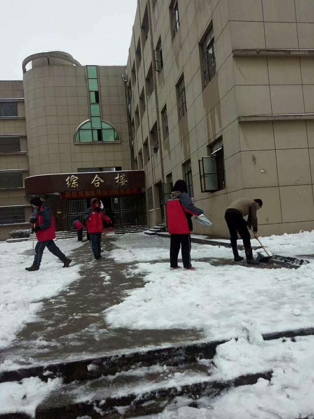
{"type": "Polygon", "coordinates": [[[22,61],[59,50],[82,65],[127,63],[136,0],[1,2],[0,80],[22,80],[22,61]]]}

